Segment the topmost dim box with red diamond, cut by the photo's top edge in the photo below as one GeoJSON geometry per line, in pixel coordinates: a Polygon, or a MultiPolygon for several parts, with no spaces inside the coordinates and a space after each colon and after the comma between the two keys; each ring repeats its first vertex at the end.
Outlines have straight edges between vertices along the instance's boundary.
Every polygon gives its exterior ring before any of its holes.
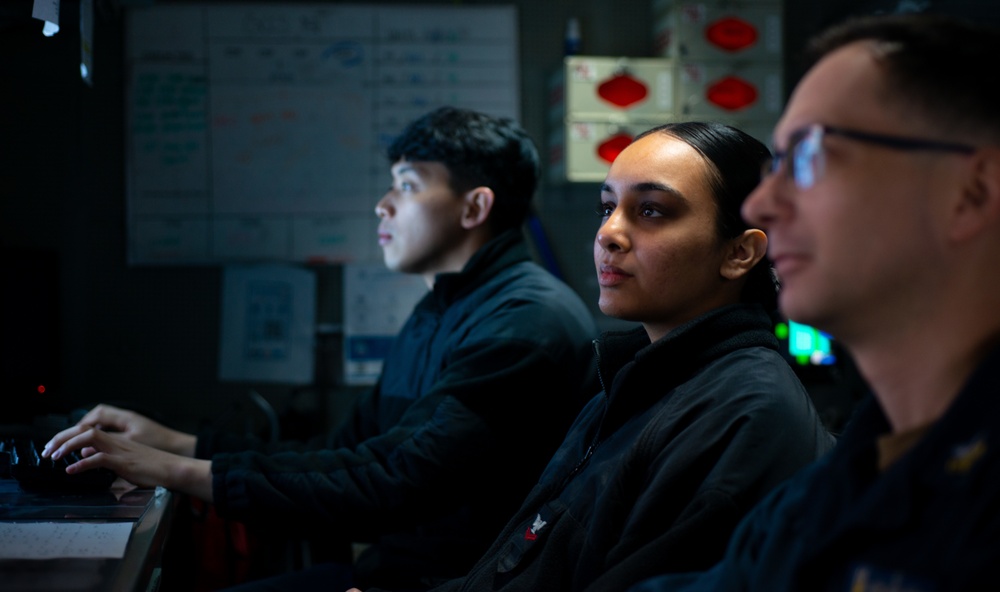
{"type": "Polygon", "coordinates": [[[782,61],[780,2],[675,2],[654,10],[654,55],[782,61]]]}

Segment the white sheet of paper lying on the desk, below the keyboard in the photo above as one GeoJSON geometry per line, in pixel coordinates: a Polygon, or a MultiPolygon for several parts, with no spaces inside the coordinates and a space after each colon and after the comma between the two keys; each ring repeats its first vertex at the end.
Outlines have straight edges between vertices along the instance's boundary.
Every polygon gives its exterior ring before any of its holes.
{"type": "Polygon", "coordinates": [[[125,556],[132,522],[0,522],[0,559],[125,556]]]}

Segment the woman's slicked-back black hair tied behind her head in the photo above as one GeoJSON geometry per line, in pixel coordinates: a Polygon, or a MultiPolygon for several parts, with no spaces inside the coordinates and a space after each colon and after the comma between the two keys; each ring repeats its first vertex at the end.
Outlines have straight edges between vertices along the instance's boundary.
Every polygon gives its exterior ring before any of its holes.
{"type": "MultiPolygon", "coordinates": [[[[750,226],[740,209],[760,182],[760,170],[771,151],[760,140],[735,127],[717,122],[667,123],[639,138],[662,133],[688,144],[709,164],[709,187],[716,205],[716,233],[720,240],[735,238],[750,226]]],[[[750,270],[740,294],[743,302],[757,302],[768,312],[778,307],[778,284],[765,255],[750,270]]]]}

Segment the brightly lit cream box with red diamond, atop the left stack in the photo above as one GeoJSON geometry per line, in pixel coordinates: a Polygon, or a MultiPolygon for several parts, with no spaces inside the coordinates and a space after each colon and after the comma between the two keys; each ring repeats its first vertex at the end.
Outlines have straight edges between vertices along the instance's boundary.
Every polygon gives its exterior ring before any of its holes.
{"type": "Polygon", "coordinates": [[[676,76],[675,62],[663,58],[566,58],[549,86],[550,121],[673,117],[676,76]]]}

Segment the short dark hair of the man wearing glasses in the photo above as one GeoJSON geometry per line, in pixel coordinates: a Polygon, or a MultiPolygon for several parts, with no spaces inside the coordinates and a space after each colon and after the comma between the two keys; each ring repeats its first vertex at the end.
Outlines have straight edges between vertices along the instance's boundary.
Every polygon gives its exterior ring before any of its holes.
{"type": "Polygon", "coordinates": [[[868,42],[885,74],[888,100],[914,109],[942,132],[1000,143],[1000,29],[930,13],[862,16],[813,37],[806,65],[854,42],[868,42]]]}

